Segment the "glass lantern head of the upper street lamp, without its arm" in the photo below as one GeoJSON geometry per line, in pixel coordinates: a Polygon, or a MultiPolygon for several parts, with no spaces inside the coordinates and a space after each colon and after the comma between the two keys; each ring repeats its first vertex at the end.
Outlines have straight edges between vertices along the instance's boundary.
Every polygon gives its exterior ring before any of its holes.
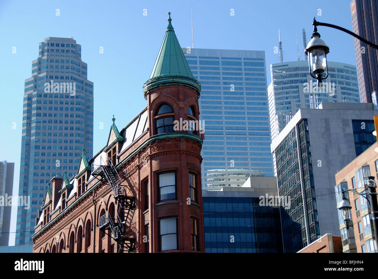
{"type": "Polygon", "coordinates": [[[329,53],[330,49],[325,42],[320,39],[320,34],[314,23],[313,26],[314,33],[312,33],[311,40],[305,48],[305,54],[308,56],[308,66],[310,68],[311,77],[318,80],[318,87],[322,87],[322,80],[328,77],[327,53],[329,53]],[[324,72],[325,77],[323,78],[322,73],[324,72]]]}

